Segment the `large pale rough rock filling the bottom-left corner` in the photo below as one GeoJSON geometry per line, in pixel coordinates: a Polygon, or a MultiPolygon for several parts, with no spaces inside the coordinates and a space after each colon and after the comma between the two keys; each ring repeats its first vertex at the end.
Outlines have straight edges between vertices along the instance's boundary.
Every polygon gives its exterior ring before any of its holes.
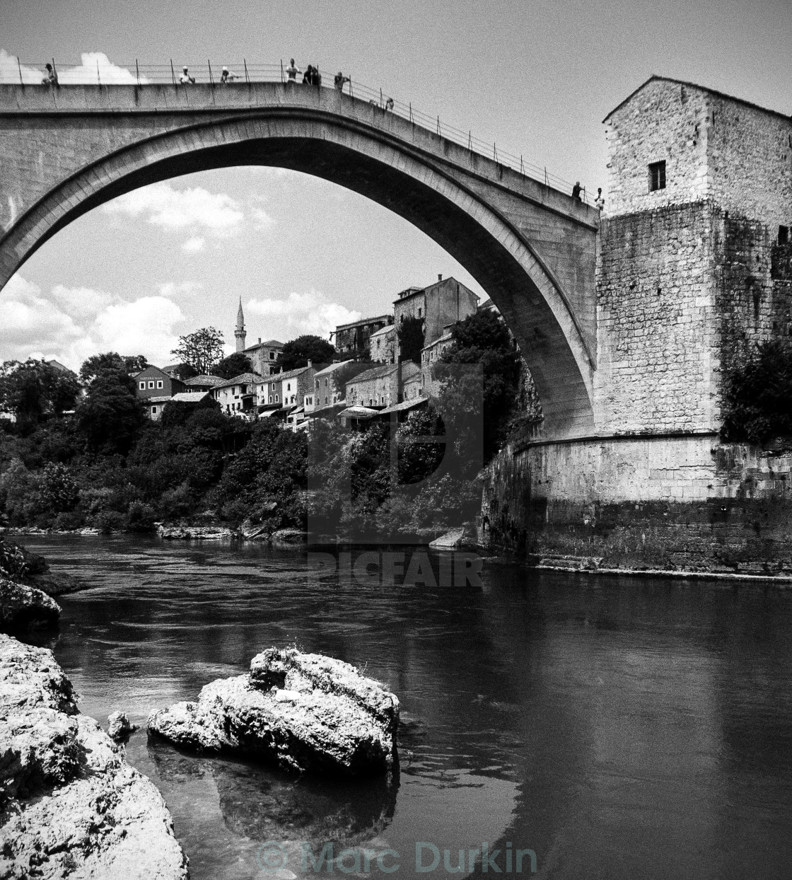
{"type": "Polygon", "coordinates": [[[186,880],[157,788],[77,711],[52,652],[0,635],[0,874],[186,880]]]}

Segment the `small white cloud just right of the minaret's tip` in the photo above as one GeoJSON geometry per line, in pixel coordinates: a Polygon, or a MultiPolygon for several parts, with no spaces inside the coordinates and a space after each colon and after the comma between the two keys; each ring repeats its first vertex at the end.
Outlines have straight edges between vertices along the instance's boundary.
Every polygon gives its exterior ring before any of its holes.
{"type": "Polygon", "coordinates": [[[331,303],[318,290],[310,293],[290,293],[285,299],[251,299],[245,305],[246,320],[253,326],[253,318],[264,319],[261,335],[282,341],[301,334],[315,334],[327,339],[339,324],[361,319],[361,312],[350,311],[338,303],[331,303]]]}

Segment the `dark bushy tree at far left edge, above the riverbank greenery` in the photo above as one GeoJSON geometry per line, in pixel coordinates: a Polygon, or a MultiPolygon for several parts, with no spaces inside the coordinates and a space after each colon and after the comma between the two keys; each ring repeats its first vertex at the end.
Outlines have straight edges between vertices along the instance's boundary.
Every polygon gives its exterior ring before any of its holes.
{"type": "Polygon", "coordinates": [[[80,391],[77,377],[44,361],[6,361],[0,368],[0,407],[19,422],[38,422],[45,413],[61,414],[74,407],[80,391]]]}

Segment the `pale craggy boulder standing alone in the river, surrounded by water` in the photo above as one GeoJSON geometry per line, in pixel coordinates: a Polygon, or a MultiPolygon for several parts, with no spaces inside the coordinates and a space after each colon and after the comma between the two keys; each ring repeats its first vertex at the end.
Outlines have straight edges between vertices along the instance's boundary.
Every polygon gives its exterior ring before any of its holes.
{"type": "Polygon", "coordinates": [[[184,748],[238,752],[298,771],[385,772],[397,763],[399,700],[354,666],[271,648],[251,671],[205,686],[197,702],[149,717],[149,730],[184,748]]]}

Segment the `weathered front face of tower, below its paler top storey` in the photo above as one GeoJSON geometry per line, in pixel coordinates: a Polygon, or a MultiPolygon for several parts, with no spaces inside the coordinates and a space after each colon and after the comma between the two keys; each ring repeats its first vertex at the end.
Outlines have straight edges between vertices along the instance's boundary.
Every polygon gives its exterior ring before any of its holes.
{"type": "Polygon", "coordinates": [[[598,429],[715,430],[712,208],[696,202],[612,217],[600,234],[598,429]]]}

